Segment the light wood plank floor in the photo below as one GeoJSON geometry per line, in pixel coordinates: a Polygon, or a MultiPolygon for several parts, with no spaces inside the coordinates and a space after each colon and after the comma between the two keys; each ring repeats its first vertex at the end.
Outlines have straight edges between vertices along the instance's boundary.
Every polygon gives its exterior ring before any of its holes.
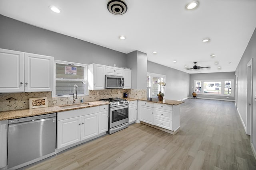
{"type": "Polygon", "coordinates": [[[135,123],[28,167],[35,170],[255,170],[234,102],[188,99],[176,135],[135,123]]]}

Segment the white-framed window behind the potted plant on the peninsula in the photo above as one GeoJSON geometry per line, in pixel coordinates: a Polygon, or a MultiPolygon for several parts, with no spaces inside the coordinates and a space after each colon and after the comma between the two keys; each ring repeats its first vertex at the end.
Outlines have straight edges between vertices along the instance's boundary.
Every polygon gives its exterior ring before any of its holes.
{"type": "Polygon", "coordinates": [[[148,72],[147,74],[147,97],[157,98],[159,91],[165,94],[165,86],[158,84],[159,82],[165,82],[165,75],[155,74],[148,72]]]}

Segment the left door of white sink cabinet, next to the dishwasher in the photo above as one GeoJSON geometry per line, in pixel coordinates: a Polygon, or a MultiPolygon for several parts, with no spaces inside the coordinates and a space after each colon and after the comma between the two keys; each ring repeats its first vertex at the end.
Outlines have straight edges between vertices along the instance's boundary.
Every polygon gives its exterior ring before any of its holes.
{"type": "Polygon", "coordinates": [[[58,121],[57,148],[66,147],[81,140],[81,117],[58,121]]]}

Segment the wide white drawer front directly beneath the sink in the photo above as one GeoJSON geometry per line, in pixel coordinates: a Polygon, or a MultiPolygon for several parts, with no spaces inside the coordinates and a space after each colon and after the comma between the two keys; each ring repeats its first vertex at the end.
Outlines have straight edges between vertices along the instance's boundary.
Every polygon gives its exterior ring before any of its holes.
{"type": "Polygon", "coordinates": [[[72,117],[84,116],[84,115],[89,115],[89,114],[98,113],[98,112],[99,112],[99,106],[61,111],[61,112],[58,112],[57,119],[58,120],[69,119],[72,117]]]}

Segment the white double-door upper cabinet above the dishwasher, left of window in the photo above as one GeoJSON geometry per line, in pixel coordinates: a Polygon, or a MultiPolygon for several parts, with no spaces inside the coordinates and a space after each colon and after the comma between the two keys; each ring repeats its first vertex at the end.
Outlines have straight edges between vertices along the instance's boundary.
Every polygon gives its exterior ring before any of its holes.
{"type": "Polygon", "coordinates": [[[53,57],[0,49],[0,61],[0,93],[53,90],[53,57]]]}

